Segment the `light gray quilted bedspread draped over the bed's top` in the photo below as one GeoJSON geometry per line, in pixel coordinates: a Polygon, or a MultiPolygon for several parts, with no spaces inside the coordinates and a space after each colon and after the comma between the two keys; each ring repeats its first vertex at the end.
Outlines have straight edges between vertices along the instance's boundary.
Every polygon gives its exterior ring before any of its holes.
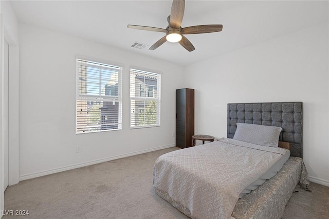
{"type": "Polygon", "coordinates": [[[153,186],[192,218],[229,218],[240,192],[285,153],[227,138],[161,155],[153,186]]]}

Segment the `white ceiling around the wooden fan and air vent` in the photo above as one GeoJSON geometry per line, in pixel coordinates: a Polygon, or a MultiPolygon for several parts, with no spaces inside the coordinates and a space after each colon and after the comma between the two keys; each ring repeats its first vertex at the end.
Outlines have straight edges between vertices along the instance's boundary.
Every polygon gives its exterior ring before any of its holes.
{"type": "Polygon", "coordinates": [[[327,1],[186,0],[181,26],[222,24],[223,31],[186,37],[188,52],[166,42],[149,50],[165,33],[127,28],[128,24],[166,28],[172,1],[11,1],[21,23],[64,32],[123,50],[186,66],[328,22],[327,1]],[[147,44],[132,48],[135,42],[147,44]]]}

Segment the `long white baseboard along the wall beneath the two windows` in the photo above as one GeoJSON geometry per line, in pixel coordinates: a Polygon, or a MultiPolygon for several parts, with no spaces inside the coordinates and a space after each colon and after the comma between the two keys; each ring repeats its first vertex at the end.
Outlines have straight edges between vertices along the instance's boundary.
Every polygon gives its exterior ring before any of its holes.
{"type": "Polygon", "coordinates": [[[112,160],[116,160],[116,159],[124,158],[124,157],[128,157],[128,156],[134,156],[134,155],[148,153],[148,152],[157,151],[157,150],[161,150],[161,149],[171,148],[171,147],[175,147],[175,146],[176,146],[176,144],[165,145],[165,146],[155,147],[155,148],[151,148],[151,149],[147,149],[147,150],[141,150],[141,151],[136,151],[136,152],[132,152],[132,153],[126,153],[126,154],[121,154],[121,155],[117,155],[117,156],[106,157],[106,158],[102,158],[102,159],[94,160],[94,161],[90,161],[90,162],[85,162],[85,163],[69,165],[69,166],[65,166],[65,167],[61,167],[61,168],[26,174],[26,175],[20,176],[20,181],[29,180],[30,178],[40,177],[40,176],[49,175],[49,174],[53,174],[53,173],[63,172],[66,170],[76,169],[79,167],[85,167],[85,166],[89,166],[89,165],[93,165],[93,164],[99,164],[99,163],[103,163],[103,162],[107,162],[107,161],[112,161],[112,160]]]}

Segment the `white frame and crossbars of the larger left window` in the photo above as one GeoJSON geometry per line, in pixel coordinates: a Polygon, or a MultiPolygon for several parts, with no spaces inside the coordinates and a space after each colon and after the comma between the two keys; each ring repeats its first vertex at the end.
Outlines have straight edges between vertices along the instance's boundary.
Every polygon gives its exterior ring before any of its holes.
{"type": "MultiPolygon", "coordinates": [[[[87,63],[83,64],[82,66],[88,66],[87,63]]],[[[115,64],[111,61],[104,61],[104,60],[99,60],[95,58],[90,58],[90,57],[83,57],[83,56],[76,56],[76,107],[75,107],[75,114],[76,114],[76,121],[75,121],[75,126],[76,126],[76,134],[86,134],[86,133],[99,133],[99,132],[106,132],[106,131],[117,131],[117,130],[122,130],[122,75],[123,75],[123,65],[118,65],[115,64]],[[100,89],[99,89],[99,95],[93,95],[93,94],[80,94],[80,71],[79,71],[79,66],[81,66],[81,63],[79,61],[85,61],[88,63],[94,63],[94,64],[99,64],[100,67],[99,69],[118,69],[118,95],[116,96],[108,96],[108,95],[102,95],[101,94],[101,76],[100,78],[100,89]],[[103,68],[101,67],[103,65],[103,68]],[[105,66],[105,67],[104,67],[105,66]],[[109,66],[109,68],[106,68],[106,66],[109,66]],[[94,104],[98,102],[118,102],[118,124],[104,124],[106,125],[118,125],[118,128],[115,129],[101,129],[102,124],[99,123],[98,130],[84,130],[84,131],[78,131],[78,102],[83,101],[86,102],[86,105],[88,102],[93,102],[94,104]]],[[[95,68],[95,66],[92,66],[95,68]]],[[[102,115],[100,115],[100,121],[102,120],[102,115]]]]}

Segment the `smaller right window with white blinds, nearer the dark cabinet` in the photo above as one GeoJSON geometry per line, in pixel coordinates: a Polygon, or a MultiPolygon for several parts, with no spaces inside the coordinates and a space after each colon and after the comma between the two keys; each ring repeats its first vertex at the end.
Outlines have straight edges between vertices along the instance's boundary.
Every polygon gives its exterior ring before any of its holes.
{"type": "Polygon", "coordinates": [[[130,69],[131,128],[160,126],[160,84],[160,74],[130,69]]]}

